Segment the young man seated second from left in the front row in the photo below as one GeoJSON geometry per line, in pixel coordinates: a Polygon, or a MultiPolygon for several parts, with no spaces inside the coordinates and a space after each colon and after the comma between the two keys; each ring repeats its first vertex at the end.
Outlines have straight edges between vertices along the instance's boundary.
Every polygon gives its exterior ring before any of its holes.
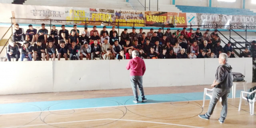
{"type": "Polygon", "coordinates": [[[32,61],[33,46],[27,41],[23,41],[22,51],[21,51],[21,61],[24,57],[28,57],[28,61],[32,61]]]}

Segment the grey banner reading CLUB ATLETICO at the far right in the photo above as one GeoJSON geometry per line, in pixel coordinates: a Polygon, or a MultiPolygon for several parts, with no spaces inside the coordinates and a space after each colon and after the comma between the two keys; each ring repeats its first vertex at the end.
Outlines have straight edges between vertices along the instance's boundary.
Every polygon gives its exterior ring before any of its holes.
{"type": "Polygon", "coordinates": [[[240,15],[222,15],[222,14],[205,14],[197,13],[198,24],[200,28],[223,28],[229,29],[229,26],[218,25],[232,25],[234,29],[256,29],[256,16],[240,16],[240,15]]]}

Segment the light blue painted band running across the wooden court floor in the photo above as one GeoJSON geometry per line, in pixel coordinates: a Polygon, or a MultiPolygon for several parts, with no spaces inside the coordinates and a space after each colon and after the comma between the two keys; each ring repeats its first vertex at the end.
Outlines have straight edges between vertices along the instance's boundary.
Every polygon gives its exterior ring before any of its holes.
{"type": "MultiPolygon", "coordinates": [[[[241,91],[242,90],[236,91],[236,97],[240,97],[241,91]]],[[[144,103],[139,101],[138,104],[203,100],[203,95],[204,95],[204,92],[145,95],[148,101],[144,103]]],[[[119,97],[107,97],[107,98],[0,104],[0,114],[134,105],[136,103],[133,102],[133,98],[134,98],[133,96],[119,96],[119,97]]],[[[230,93],[229,98],[232,98],[232,93],[230,93]]],[[[209,100],[210,98],[206,96],[206,99],[209,100]]]]}

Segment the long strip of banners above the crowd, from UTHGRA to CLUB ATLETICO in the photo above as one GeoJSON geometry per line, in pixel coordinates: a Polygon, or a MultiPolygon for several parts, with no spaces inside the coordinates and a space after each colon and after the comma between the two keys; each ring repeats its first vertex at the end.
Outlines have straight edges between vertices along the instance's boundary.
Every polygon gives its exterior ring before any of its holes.
{"type": "MultiPolygon", "coordinates": [[[[66,25],[91,25],[91,26],[158,26],[177,28],[216,28],[216,25],[234,26],[234,29],[256,29],[256,16],[204,14],[204,13],[177,13],[177,12],[154,12],[136,10],[111,10],[98,8],[74,8],[56,6],[33,6],[20,4],[0,4],[0,22],[10,23],[14,11],[15,18],[29,18],[40,20],[18,20],[17,23],[26,24],[66,24],[66,25]],[[21,11],[22,10],[22,11],[21,11]],[[71,20],[71,21],[59,21],[71,20]],[[82,21],[81,21],[82,20],[82,21]],[[90,22],[86,22],[90,21],[90,22]],[[133,24],[135,22],[135,24],[133,24]]],[[[229,29],[228,26],[217,26],[229,29]]]]}

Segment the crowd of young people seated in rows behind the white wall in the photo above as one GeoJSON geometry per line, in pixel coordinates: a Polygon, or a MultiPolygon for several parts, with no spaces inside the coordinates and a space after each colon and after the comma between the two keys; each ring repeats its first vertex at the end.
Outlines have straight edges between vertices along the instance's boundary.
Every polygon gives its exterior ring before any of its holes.
{"type": "MultiPolygon", "coordinates": [[[[118,37],[118,32],[115,27],[108,32],[106,26],[98,32],[94,26],[89,32],[88,28],[84,28],[81,32],[74,25],[70,33],[65,29],[65,25],[61,26],[61,30],[56,30],[56,26],[52,26],[52,30],[48,32],[45,24],[42,24],[42,29],[36,30],[30,24],[26,32],[23,28],[19,28],[15,24],[12,41],[8,45],[7,57],[21,57],[27,60],[55,60],[57,57],[65,58],[65,60],[94,60],[98,57],[100,60],[112,59],[131,59],[132,51],[137,50],[143,59],[172,59],[172,58],[218,58],[220,53],[227,53],[229,58],[234,58],[231,42],[228,42],[222,48],[220,45],[221,39],[215,30],[211,34],[206,30],[204,34],[197,28],[196,32],[190,29],[190,32],[183,28],[182,31],[177,30],[174,33],[170,32],[170,28],[163,34],[162,29],[154,32],[151,28],[150,32],[143,32],[140,28],[140,33],[136,33],[133,28],[132,32],[128,32],[125,28],[118,37]],[[48,35],[49,34],[49,35],[48,35]],[[23,41],[22,46],[16,41],[23,41]],[[31,44],[30,44],[31,42],[31,44]],[[34,42],[36,42],[34,44],[34,42]],[[18,44],[18,45],[16,45],[18,44]],[[17,47],[22,48],[22,53],[17,47]]],[[[256,42],[253,42],[256,44],[256,42]]],[[[256,45],[255,45],[256,46],[256,45]]],[[[254,46],[254,47],[255,47],[254,46]]],[[[252,47],[252,48],[254,48],[252,47]]],[[[256,48],[252,49],[255,51],[256,48]]],[[[240,57],[255,56],[246,48],[240,57]]]]}

